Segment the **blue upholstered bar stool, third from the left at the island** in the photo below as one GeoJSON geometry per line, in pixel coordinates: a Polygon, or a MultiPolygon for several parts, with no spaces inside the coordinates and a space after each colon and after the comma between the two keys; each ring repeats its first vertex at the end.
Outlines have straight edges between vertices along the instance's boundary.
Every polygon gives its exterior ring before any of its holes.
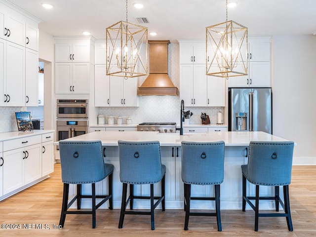
{"type": "Polygon", "coordinates": [[[181,142],[181,177],[184,183],[185,223],[188,230],[190,216],[216,216],[217,230],[222,231],[220,212],[220,184],[224,180],[225,143],[181,142]],[[191,185],[214,185],[215,197],[191,197],[191,185]],[[191,200],[215,200],[215,212],[190,212],[191,200]]]}

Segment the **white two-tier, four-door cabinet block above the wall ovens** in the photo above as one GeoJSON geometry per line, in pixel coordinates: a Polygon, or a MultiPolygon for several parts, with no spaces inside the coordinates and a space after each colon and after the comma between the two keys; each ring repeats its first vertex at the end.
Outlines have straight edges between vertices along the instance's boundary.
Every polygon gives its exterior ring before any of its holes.
{"type": "Polygon", "coordinates": [[[55,39],[56,94],[90,93],[93,74],[91,64],[94,62],[93,48],[94,42],[91,37],[55,39]]]}

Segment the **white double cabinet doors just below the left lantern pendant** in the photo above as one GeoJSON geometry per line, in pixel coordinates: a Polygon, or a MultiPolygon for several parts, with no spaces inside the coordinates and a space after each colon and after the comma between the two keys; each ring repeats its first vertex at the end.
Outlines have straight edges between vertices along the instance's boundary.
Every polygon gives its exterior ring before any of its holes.
{"type": "Polygon", "coordinates": [[[138,106],[136,78],[110,77],[110,91],[111,106],[138,106]]]}

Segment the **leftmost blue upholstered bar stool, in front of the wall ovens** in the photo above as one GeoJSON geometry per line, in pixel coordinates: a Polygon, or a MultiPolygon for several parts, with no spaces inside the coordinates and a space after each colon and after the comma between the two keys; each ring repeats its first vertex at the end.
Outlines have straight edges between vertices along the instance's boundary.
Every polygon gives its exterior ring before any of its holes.
{"type": "Polygon", "coordinates": [[[59,225],[64,226],[66,214],[92,214],[92,228],[96,226],[96,209],[109,200],[113,209],[112,164],[103,160],[101,141],[59,141],[61,177],[64,183],[63,204],[59,225]],[[108,195],[95,195],[95,183],[108,177],[108,195]],[[77,195],[68,203],[69,184],[77,184],[77,195]],[[81,195],[81,185],[92,184],[92,195],[81,195]],[[81,211],[81,198],[92,198],[92,211],[81,211]],[[102,200],[96,205],[96,198],[102,200]],[[68,210],[77,200],[77,211],[68,210]]]}

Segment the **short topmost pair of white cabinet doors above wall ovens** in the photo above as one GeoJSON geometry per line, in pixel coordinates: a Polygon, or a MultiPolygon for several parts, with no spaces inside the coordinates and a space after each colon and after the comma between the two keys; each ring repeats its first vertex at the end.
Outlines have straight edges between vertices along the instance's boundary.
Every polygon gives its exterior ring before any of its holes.
{"type": "Polygon", "coordinates": [[[55,40],[55,62],[90,62],[90,40],[55,40]]]}

